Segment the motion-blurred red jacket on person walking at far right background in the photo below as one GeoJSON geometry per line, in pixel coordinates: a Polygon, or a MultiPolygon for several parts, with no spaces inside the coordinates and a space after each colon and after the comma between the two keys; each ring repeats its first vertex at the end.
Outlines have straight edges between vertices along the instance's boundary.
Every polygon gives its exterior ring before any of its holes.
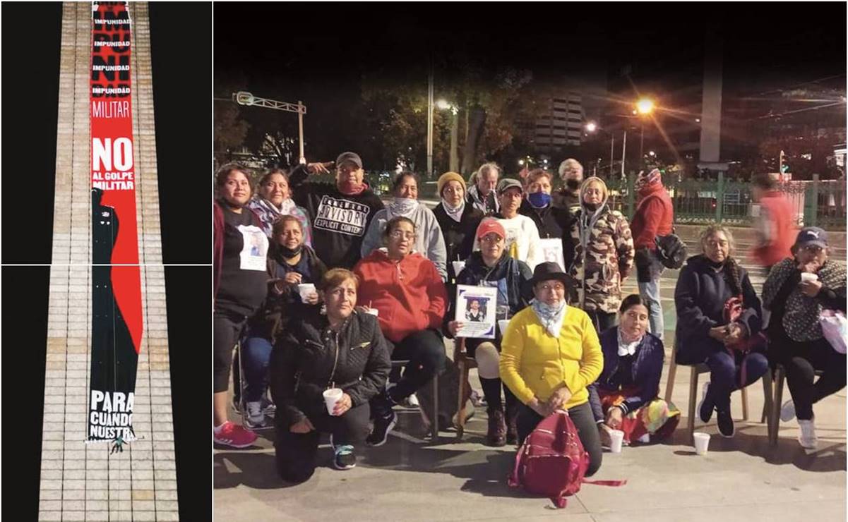
{"type": "Polygon", "coordinates": [[[789,251],[797,231],[789,198],[783,192],[766,192],[760,198],[760,219],[762,243],[754,247],[751,256],[762,266],[772,266],[792,255],[789,251]]]}

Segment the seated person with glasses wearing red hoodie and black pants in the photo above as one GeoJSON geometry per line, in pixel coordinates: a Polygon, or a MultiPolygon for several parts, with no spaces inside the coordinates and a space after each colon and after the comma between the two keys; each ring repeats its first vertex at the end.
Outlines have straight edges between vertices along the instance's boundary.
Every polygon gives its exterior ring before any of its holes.
{"type": "Polygon", "coordinates": [[[395,360],[410,361],[397,385],[371,400],[374,429],[365,442],[382,446],[397,423],[392,406],[424,386],[444,365],[439,327],[447,292],[436,265],[412,252],[416,225],[409,218],[390,219],[378,248],[354,267],[361,281],[357,303],[377,310],[380,329],[395,360]]]}

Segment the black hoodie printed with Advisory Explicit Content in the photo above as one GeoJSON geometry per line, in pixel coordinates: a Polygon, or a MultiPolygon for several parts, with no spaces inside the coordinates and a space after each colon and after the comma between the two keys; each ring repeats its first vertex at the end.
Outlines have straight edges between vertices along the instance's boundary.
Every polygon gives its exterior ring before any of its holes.
{"type": "Polygon", "coordinates": [[[352,269],[360,260],[360,249],[371,219],[383,204],[371,188],[346,195],[335,184],[306,181],[306,165],[298,165],[289,176],[293,200],[306,209],[312,220],[312,247],[330,268],[352,269]]]}

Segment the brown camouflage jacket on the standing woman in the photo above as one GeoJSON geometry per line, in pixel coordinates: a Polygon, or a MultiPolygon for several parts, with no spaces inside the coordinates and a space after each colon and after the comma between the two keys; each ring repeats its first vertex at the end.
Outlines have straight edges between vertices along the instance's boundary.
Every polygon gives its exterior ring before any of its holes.
{"type": "Polygon", "coordinates": [[[571,235],[575,253],[569,272],[580,281],[578,306],[616,313],[622,303],[622,280],[633,269],[628,219],[606,205],[594,216],[580,208],[571,235]]]}

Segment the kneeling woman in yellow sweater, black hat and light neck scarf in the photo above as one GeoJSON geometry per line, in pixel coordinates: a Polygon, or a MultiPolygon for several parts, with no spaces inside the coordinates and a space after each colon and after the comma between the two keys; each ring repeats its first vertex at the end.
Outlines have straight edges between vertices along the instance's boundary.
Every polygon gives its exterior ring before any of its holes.
{"type": "Polygon", "coordinates": [[[589,453],[589,476],[600,468],[601,449],[587,386],[598,379],[604,355],[589,315],[566,305],[566,285],[571,281],[555,263],[533,270],[529,283],[536,298],[506,328],[500,378],[522,402],[518,444],[539,421],[565,409],[589,453]]]}

